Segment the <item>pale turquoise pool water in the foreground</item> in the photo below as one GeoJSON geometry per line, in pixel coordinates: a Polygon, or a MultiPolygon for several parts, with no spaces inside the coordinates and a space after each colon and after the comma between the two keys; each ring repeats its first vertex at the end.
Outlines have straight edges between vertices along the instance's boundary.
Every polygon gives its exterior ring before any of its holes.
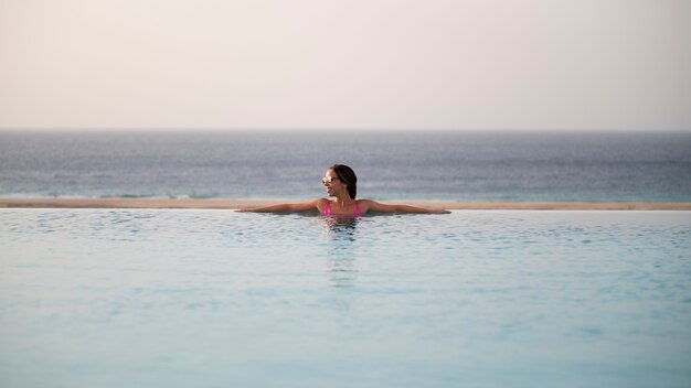
{"type": "Polygon", "coordinates": [[[691,213],[0,211],[2,387],[689,387],[691,213]]]}

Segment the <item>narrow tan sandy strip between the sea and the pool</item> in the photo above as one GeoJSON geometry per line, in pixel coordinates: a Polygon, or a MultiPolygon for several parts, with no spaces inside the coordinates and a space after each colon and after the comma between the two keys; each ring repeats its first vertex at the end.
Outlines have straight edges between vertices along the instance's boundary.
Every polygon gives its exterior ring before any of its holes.
{"type": "MultiPolygon", "coordinates": [[[[167,198],[15,198],[0,197],[0,208],[198,208],[236,209],[295,201],[167,198]]],[[[382,201],[451,211],[691,211],[689,202],[443,202],[382,201]]]]}

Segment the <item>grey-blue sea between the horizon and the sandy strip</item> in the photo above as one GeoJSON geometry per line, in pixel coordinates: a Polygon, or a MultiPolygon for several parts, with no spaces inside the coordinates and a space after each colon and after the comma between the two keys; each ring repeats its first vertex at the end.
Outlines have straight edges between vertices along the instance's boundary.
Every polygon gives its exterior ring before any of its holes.
{"type": "Polygon", "coordinates": [[[359,196],[691,201],[691,134],[629,132],[0,132],[0,196],[359,196]]]}

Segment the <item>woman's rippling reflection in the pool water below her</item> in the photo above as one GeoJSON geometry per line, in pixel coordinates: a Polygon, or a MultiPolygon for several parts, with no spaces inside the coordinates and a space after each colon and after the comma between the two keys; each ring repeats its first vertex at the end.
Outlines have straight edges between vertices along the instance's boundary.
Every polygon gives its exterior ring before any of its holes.
{"type": "Polygon", "coordinates": [[[333,287],[349,288],[355,283],[358,218],[323,217],[328,235],[328,271],[333,287]]]}

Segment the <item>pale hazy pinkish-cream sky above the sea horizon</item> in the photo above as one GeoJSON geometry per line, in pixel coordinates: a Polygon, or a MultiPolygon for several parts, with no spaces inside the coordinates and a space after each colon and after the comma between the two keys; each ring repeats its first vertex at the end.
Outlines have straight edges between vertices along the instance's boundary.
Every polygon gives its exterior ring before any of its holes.
{"type": "Polygon", "coordinates": [[[691,1],[0,0],[0,128],[691,130],[691,1]]]}

